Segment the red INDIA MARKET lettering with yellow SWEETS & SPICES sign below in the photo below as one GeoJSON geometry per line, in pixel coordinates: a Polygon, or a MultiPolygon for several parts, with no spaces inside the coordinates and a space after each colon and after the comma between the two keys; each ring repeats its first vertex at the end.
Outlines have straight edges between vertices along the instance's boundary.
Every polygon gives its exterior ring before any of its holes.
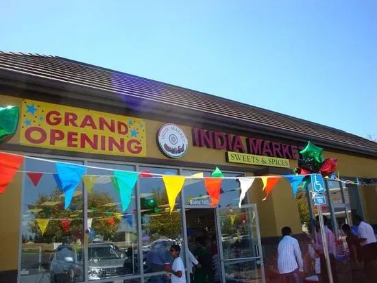
{"type": "Polygon", "coordinates": [[[193,128],[193,146],[226,150],[228,162],[289,168],[304,147],[193,128]]]}

